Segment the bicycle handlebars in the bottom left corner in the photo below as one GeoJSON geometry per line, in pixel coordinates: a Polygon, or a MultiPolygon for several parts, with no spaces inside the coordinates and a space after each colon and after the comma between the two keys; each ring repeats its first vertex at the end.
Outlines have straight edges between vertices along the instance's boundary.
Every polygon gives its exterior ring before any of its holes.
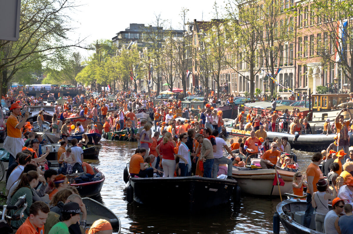
{"type": "Polygon", "coordinates": [[[18,198],[16,204],[14,205],[0,205],[0,233],[12,233],[13,230],[10,226],[11,220],[20,220],[23,218],[23,211],[27,208],[27,202],[26,202],[26,195],[23,195],[18,198]],[[21,209],[21,212],[19,214],[13,214],[12,216],[8,215],[8,212],[10,210],[19,210],[21,209]]]}

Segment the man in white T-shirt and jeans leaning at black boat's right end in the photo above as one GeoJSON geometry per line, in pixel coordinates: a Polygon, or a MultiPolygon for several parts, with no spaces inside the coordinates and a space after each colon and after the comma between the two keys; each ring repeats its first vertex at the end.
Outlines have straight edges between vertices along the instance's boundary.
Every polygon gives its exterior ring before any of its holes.
{"type": "Polygon", "coordinates": [[[233,179],[232,178],[233,162],[232,162],[232,160],[223,156],[223,147],[228,151],[228,153],[230,155],[232,155],[234,157],[232,150],[229,149],[226,142],[222,138],[218,137],[219,136],[218,130],[213,130],[212,135],[216,139],[216,146],[217,146],[217,151],[213,152],[213,156],[215,157],[215,161],[213,163],[213,168],[212,168],[212,178],[214,178],[214,179],[217,178],[218,167],[220,164],[227,164],[228,165],[227,179],[233,179]]]}

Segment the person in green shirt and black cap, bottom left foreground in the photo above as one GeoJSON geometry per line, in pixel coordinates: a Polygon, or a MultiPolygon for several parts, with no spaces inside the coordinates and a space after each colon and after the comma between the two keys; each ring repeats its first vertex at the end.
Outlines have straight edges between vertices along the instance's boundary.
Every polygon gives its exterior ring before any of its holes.
{"type": "Polygon", "coordinates": [[[61,222],[56,223],[49,234],[70,234],[68,227],[80,219],[80,206],[76,202],[65,203],[61,210],[61,222]]]}

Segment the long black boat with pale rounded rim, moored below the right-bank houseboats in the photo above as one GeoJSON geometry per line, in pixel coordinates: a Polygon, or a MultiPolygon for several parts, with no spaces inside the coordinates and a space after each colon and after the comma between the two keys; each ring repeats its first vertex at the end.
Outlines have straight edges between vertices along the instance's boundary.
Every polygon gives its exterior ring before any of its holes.
{"type": "MultiPolygon", "coordinates": [[[[230,135],[233,136],[250,136],[250,131],[237,130],[232,128],[227,128],[227,131],[230,135]]],[[[352,145],[353,133],[348,133],[348,135],[350,136],[349,144],[352,145]]],[[[294,135],[292,134],[268,131],[267,136],[270,138],[270,141],[272,141],[274,137],[281,139],[282,136],[286,136],[288,137],[288,142],[291,144],[291,148],[310,152],[318,152],[322,149],[326,149],[331,143],[333,143],[336,134],[329,134],[328,136],[325,134],[300,134],[294,144],[292,143],[294,139],[294,135]]]]}

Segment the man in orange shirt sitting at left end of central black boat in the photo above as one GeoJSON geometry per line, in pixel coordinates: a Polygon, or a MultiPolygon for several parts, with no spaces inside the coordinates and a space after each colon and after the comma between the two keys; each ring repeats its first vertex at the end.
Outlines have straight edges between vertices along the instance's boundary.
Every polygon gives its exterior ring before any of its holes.
{"type": "Polygon", "coordinates": [[[130,176],[141,178],[153,177],[153,168],[144,165],[143,156],[146,154],[145,148],[140,148],[140,152],[131,156],[129,172],[130,176]]]}

